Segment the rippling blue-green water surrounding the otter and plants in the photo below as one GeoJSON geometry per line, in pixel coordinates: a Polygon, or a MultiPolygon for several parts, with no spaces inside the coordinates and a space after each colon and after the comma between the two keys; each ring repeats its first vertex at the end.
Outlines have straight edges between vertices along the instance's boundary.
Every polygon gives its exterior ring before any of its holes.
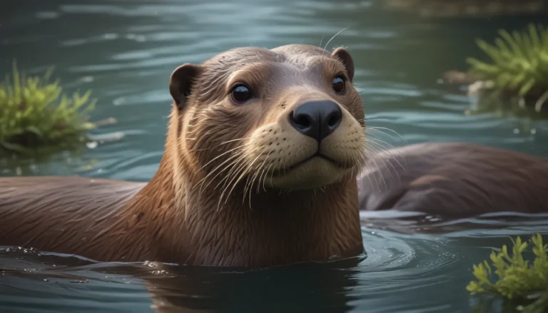
{"type": "MultiPolygon", "coordinates": [[[[546,21],[547,11],[436,19],[387,6],[395,2],[3,0],[0,71],[13,58],[31,72],[55,65],[67,91],[93,89],[93,120],[118,120],[94,133],[125,137],[40,162],[4,160],[0,175],[149,180],[163,153],[176,66],[235,46],[325,44],[347,26],[328,48],[352,53],[367,123],[401,137],[371,135],[391,145],[462,140],[548,155],[547,122],[465,116],[465,92],[439,82],[444,71],[465,70],[467,56],[482,56],[476,37],[546,21]]],[[[510,235],[548,232],[545,217],[420,224],[378,217],[362,217],[363,259],[251,272],[4,247],[0,312],[469,312],[472,264],[510,235]]]]}

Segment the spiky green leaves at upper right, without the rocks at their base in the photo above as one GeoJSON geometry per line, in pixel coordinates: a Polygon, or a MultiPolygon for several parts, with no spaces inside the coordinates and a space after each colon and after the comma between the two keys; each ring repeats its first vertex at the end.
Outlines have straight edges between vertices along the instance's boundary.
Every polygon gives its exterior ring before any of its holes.
{"type": "Polygon", "coordinates": [[[488,81],[497,96],[516,96],[520,106],[525,99],[535,102],[539,112],[548,101],[548,29],[529,24],[527,30],[499,30],[494,45],[477,39],[477,45],[489,56],[489,62],[468,58],[470,73],[488,81]]]}

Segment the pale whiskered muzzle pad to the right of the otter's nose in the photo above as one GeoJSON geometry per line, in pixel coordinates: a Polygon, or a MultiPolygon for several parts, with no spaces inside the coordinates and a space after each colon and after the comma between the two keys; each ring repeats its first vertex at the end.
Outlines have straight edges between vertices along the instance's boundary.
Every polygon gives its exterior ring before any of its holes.
{"type": "Polygon", "coordinates": [[[341,170],[359,166],[365,153],[365,133],[357,120],[344,108],[340,126],[320,145],[320,153],[338,161],[341,170]]]}

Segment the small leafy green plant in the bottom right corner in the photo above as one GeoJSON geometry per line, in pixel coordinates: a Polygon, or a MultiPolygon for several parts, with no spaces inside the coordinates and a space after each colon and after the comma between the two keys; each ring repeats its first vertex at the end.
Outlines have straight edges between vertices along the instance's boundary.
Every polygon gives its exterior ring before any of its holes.
{"type": "Polygon", "coordinates": [[[548,245],[537,234],[529,242],[520,237],[512,240],[512,254],[506,245],[499,252],[489,256],[492,265],[484,261],[474,265],[473,280],[466,289],[472,294],[494,294],[504,299],[527,301],[536,297],[536,301],[520,306],[522,312],[544,312],[548,309],[548,245]],[[527,247],[532,246],[533,262],[524,258],[527,247]],[[494,270],[492,269],[494,267],[494,270]],[[492,282],[493,274],[498,279],[492,282]]]}

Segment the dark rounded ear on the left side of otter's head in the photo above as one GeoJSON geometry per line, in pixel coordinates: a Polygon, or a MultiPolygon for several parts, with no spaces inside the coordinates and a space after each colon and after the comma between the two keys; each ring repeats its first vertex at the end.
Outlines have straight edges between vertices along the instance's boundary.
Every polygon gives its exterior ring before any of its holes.
{"type": "Polygon", "coordinates": [[[169,93],[178,109],[185,107],[186,98],[191,94],[192,83],[200,73],[200,66],[189,63],[179,66],[171,73],[169,93]]]}

